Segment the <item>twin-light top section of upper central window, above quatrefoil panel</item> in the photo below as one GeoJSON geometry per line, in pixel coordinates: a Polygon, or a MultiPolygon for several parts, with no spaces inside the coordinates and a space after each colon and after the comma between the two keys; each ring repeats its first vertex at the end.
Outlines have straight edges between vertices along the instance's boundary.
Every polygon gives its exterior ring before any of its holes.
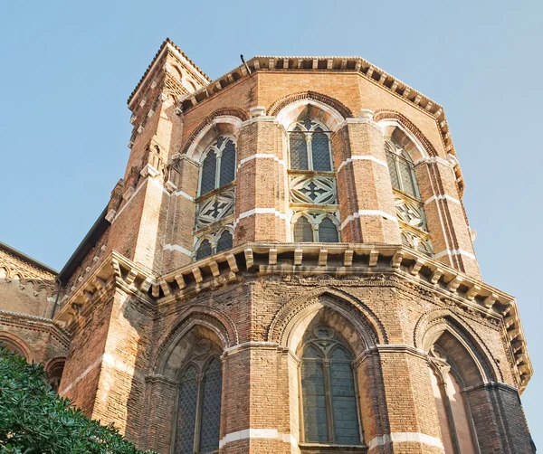
{"type": "Polygon", "coordinates": [[[289,133],[291,169],[330,172],[329,130],[311,118],[298,121],[289,133]]]}

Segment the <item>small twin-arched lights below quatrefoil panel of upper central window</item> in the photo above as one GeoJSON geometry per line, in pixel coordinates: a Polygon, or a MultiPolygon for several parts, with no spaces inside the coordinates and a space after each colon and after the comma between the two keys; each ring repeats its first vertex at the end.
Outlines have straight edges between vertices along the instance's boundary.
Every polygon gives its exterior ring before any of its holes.
{"type": "Polygon", "coordinates": [[[294,222],[293,239],[295,242],[338,242],[339,222],[328,213],[303,213],[294,222]]]}

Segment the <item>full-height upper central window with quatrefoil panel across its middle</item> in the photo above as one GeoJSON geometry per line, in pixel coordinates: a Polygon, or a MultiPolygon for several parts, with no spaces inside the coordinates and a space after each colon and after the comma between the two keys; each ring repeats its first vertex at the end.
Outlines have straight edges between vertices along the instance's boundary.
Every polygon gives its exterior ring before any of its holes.
{"type": "Polygon", "coordinates": [[[338,242],[338,191],[331,132],[315,118],[300,118],[289,131],[292,240],[338,242]]]}

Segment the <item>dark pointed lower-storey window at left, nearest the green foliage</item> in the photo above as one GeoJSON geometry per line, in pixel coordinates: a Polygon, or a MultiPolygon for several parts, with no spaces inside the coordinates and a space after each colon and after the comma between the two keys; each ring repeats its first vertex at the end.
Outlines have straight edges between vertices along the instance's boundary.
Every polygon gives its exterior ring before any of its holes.
{"type": "Polygon", "coordinates": [[[195,345],[179,383],[175,454],[218,451],[223,374],[216,349],[195,345]]]}

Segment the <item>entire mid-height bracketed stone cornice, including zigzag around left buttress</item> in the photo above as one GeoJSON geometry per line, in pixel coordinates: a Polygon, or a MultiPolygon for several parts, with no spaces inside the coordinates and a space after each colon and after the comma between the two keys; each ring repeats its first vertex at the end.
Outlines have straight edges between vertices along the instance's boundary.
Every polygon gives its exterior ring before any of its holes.
{"type": "Polygon", "coordinates": [[[155,276],[132,261],[111,251],[100,267],[73,294],[68,295],[54,321],[70,328],[90,311],[109,288],[138,296],[148,307],[169,306],[192,298],[202,291],[240,282],[243,274],[294,275],[345,278],[357,285],[376,285],[381,276],[401,276],[433,292],[438,298],[479,314],[501,326],[507,339],[513,370],[522,391],[533,374],[528,348],[513,297],[480,280],[448,267],[440,261],[399,245],[360,243],[264,243],[252,242],[155,276]],[[366,283],[364,279],[369,279],[366,283]],[[150,294],[150,295],[149,295],[150,294]]]}

